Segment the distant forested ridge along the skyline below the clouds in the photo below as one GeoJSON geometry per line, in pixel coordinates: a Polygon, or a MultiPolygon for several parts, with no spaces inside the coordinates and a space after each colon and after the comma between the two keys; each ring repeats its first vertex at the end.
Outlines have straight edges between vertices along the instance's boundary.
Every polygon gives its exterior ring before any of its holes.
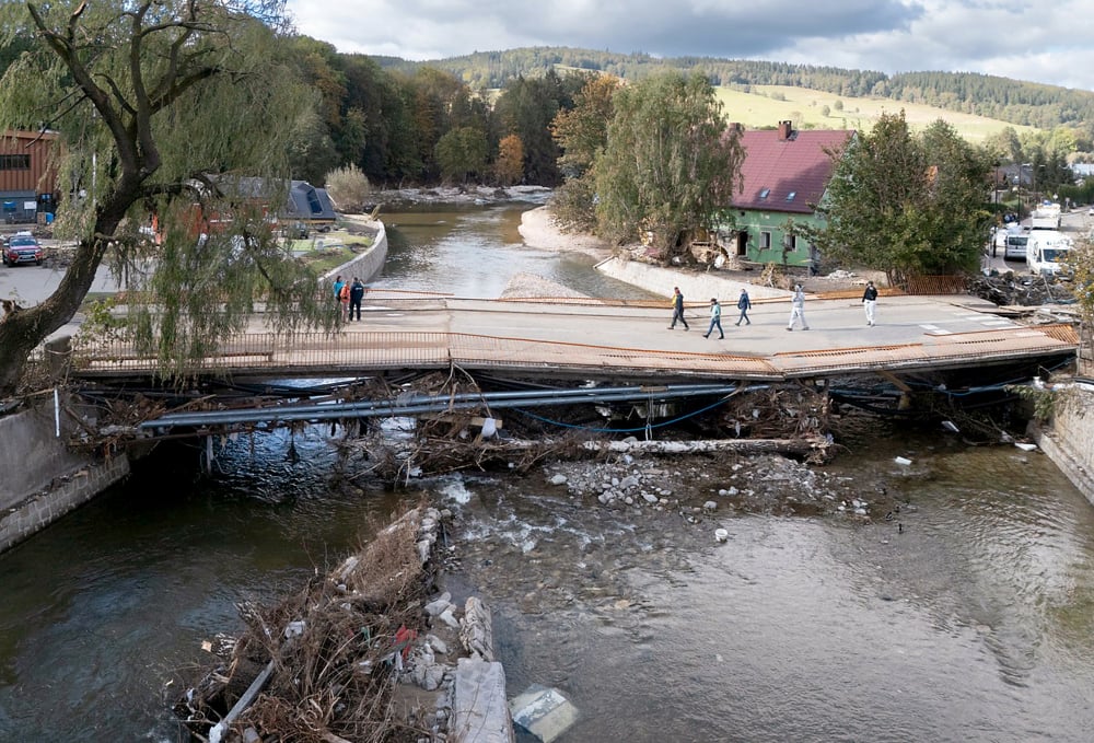
{"type": "Polygon", "coordinates": [[[568,47],[524,47],[476,51],[427,62],[375,57],[381,67],[412,70],[428,65],[449,70],[468,85],[502,88],[517,76],[549,69],[579,68],[636,79],[664,68],[696,70],[715,85],[791,85],[843,96],[876,96],[959,111],[1040,129],[1068,126],[1094,131],[1094,93],[971,72],[907,72],[888,76],[872,70],[718,59],[655,58],[647,54],[613,54],[568,47]]]}

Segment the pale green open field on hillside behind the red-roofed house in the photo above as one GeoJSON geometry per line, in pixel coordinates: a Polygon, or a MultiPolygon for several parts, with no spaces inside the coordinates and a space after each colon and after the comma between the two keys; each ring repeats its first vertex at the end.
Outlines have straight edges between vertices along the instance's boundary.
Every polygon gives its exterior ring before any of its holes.
{"type": "Polygon", "coordinates": [[[1033,130],[1032,127],[916,103],[847,97],[804,88],[753,85],[750,93],[729,88],[718,88],[715,92],[724,106],[725,118],[738,121],[748,129],[773,128],[779,121],[789,119],[799,129],[869,130],[882,114],[898,114],[903,108],[913,129],[922,129],[941,118],[970,142],[980,142],[1006,127],[1019,132],[1033,130]],[[837,111],[837,101],[841,102],[842,111],[837,111]],[[824,115],[825,106],[829,108],[827,116],[824,115]]]}

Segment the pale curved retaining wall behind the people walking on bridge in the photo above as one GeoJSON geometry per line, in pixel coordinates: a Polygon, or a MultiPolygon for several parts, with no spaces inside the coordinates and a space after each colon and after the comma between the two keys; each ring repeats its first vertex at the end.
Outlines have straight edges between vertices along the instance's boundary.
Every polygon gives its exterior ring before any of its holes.
{"type": "MultiPolygon", "coordinates": [[[[626,281],[647,291],[664,294],[665,305],[672,297],[673,287],[679,287],[684,300],[691,302],[709,302],[718,299],[724,307],[736,306],[741,290],[748,290],[748,297],[754,302],[759,299],[790,299],[791,292],[772,287],[760,287],[755,283],[735,281],[719,275],[712,268],[706,272],[686,272],[676,268],[662,268],[640,260],[626,260],[612,257],[596,264],[596,270],[614,279],[626,281]]],[[[788,305],[789,311],[789,305],[788,305]]]]}

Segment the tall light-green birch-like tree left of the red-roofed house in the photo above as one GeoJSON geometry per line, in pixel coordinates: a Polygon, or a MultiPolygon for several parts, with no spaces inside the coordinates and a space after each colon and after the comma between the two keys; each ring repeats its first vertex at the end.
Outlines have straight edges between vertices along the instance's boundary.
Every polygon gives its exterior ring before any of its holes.
{"type": "Polygon", "coordinates": [[[643,232],[665,254],[684,232],[710,229],[732,200],[744,152],[706,78],[666,72],[620,88],[607,147],[597,158],[600,233],[616,242],[643,232]]]}

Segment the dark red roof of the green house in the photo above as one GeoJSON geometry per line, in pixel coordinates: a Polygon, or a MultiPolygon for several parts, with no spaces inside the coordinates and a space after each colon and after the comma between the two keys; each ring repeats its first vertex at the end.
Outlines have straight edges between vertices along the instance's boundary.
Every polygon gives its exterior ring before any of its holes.
{"type": "Polygon", "coordinates": [[[736,193],[737,209],[811,213],[821,199],[833,161],[827,150],[841,149],[853,133],[848,130],[808,129],[780,139],[778,129],[744,131],[741,164],[744,185],[736,193]],[[767,189],[766,197],[760,194],[767,189]],[[793,194],[793,198],[788,197],[793,194]]]}

